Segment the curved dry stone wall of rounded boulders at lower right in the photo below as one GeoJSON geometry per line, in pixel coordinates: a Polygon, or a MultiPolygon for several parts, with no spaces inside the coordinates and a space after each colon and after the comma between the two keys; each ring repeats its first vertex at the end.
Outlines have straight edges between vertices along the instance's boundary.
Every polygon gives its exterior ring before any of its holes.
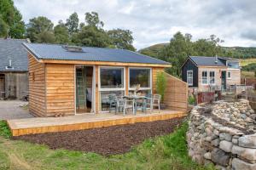
{"type": "Polygon", "coordinates": [[[218,169],[256,170],[256,114],[249,102],[218,101],[191,111],[189,156],[218,169]]]}

